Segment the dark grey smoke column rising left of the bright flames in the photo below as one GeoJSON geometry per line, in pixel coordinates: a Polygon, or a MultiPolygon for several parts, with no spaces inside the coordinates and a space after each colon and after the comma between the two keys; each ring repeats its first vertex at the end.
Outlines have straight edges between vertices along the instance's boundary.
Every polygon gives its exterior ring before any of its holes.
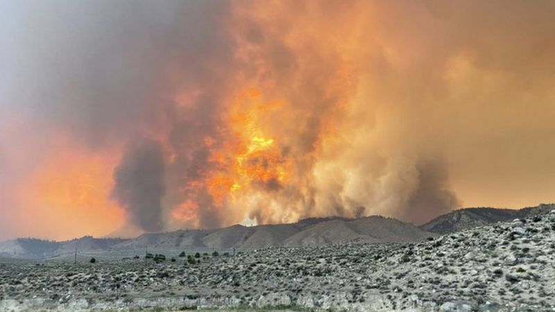
{"type": "Polygon", "coordinates": [[[146,232],[163,228],[164,154],[156,141],[132,144],[114,168],[112,196],[124,207],[133,224],[146,232]]]}

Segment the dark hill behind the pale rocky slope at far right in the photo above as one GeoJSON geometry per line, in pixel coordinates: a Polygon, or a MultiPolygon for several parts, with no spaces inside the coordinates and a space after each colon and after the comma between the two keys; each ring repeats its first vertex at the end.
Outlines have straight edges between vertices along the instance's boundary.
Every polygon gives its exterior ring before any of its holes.
{"type": "Polygon", "coordinates": [[[555,204],[542,204],[537,207],[523,209],[497,209],[489,207],[465,208],[438,216],[421,228],[427,232],[452,233],[463,229],[470,229],[496,222],[513,220],[515,218],[529,218],[540,214],[547,214],[555,209],[555,204]]]}

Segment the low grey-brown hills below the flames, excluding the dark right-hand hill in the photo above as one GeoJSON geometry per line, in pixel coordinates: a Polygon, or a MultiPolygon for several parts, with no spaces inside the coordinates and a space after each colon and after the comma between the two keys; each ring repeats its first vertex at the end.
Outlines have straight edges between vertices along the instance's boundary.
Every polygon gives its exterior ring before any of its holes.
{"type": "Polygon", "coordinates": [[[380,216],[359,219],[311,218],[293,224],[255,227],[233,225],[223,229],[146,233],[135,239],[94,239],[90,236],[63,242],[15,239],[0,243],[0,256],[28,259],[66,256],[73,259],[77,249],[80,255],[134,257],[135,254],[144,254],[145,248],[160,253],[182,250],[212,252],[325,245],[355,239],[370,243],[421,241],[433,235],[411,223],[380,216]]]}

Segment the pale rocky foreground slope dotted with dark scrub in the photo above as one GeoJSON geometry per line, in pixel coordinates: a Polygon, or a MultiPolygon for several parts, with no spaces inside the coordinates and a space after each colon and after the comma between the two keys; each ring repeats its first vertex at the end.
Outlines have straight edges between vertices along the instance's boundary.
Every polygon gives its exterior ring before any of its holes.
{"type": "Polygon", "coordinates": [[[419,243],[144,263],[0,263],[0,311],[553,311],[555,211],[419,243]]]}

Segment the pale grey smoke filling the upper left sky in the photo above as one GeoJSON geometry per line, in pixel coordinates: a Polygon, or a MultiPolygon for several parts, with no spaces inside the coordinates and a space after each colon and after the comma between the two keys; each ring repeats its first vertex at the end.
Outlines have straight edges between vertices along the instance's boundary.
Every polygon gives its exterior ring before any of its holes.
{"type": "Polygon", "coordinates": [[[62,128],[92,148],[121,144],[160,126],[180,89],[223,87],[214,71],[231,57],[225,1],[17,1],[3,8],[0,66],[10,76],[0,74],[0,105],[30,114],[46,135],[62,128]]]}

